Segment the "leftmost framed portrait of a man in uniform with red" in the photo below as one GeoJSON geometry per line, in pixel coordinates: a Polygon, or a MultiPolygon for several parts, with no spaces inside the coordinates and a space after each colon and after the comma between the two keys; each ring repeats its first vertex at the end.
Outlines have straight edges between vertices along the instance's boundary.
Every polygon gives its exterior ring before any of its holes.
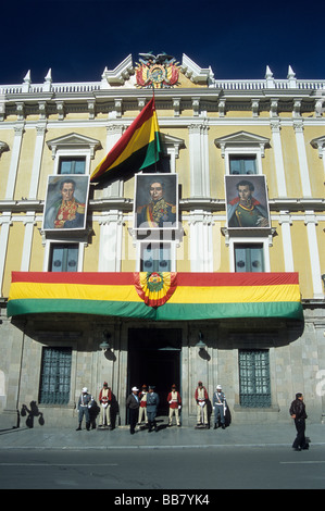
{"type": "Polygon", "coordinates": [[[48,177],[43,230],[86,227],[89,176],[60,174],[48,177]]]}

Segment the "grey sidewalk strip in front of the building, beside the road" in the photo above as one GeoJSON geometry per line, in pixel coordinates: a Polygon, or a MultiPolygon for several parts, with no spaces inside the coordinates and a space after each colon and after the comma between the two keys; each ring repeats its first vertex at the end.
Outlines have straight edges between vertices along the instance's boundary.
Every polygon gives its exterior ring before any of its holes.
{"type": "MultiPolygon", "coordinates": [[[[308,424],[307,436],[311,448],[325,446],[325,425],[308,424]]],[[[114,431],[37,426],[0,431],[1,449],[182,449],[217,447],[291,447],[296,437],[293,423],[274,425],[230,425],[226,429],[196,429],[193,427],[165,427],[159,432],[139,431],[129,434],[128,426],[114,431]]]]}

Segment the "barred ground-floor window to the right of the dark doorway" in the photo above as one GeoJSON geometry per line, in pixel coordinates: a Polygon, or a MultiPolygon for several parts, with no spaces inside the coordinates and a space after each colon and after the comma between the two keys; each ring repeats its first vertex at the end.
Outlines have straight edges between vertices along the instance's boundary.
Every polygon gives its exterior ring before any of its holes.
{"type": "Polygon", "coordinates": [[[242,407],[271,407],[268,350],[239,350],[239,400],[242,407]]]}

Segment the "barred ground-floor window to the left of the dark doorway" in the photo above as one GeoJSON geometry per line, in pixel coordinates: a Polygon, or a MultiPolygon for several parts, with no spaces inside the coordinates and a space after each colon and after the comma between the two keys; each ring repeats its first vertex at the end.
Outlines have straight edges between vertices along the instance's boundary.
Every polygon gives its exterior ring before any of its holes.
{"type": "Polygon", "coordinates": [[[68,403],[71,363],[71,348],[43,348],[38,399],[39,403],[68,403]]]}

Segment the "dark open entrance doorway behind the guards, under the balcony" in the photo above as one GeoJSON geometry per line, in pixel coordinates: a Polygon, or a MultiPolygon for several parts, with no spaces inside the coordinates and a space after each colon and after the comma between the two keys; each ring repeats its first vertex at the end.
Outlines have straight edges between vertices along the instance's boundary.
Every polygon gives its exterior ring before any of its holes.
{"type": "Polygon", "coordinates": [[[130,328],[128,335],[128,389],[154,385],[159,415],[168,414],[167,395],[173,384],[180,391],[182,329],[130,328]]]}

